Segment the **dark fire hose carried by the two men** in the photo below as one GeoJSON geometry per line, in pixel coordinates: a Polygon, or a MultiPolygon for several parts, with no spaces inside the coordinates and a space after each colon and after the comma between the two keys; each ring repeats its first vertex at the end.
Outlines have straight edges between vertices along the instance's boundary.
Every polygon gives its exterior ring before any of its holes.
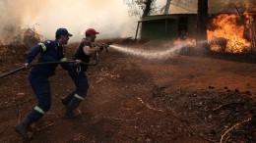
{"type": "MultiPolygon", "coordinates": [[[[98,53],[96,52],[96,62],[95,63],[93,63],[93,62],[91,62],[91,63],[84,63],[84,62],[82,62],[82,63],[80,63],[80,65],[86,65],[86,66],[96,66],[97,64],[98,64],[98,53]]],[[[43,62],[43,63],[34,63],[34,64],[30,64],[30,67],[35,67],[35,66],[43,66],[43,65],[52,65],[52,64],[68,64],[68,63],[70,63],[70,64],[76,64],[77,62],[76,61],[53,61],[53,62],[43,62]]],[[[5,76],[8,76],[8,75],[11,75],[11,74],[14,74],[14,73],[16,73],[16,72],[18,72],[18,71],[23,71],[23,70],[26,70],[27,68],[25,67],[25,66],[23,66],[23,67],[21,67],[21,68],[18,68],[18,69],[16,69],[16,70],[14,70],[14,71],[9,71],[9,72],[7,72],[7,73],[4,73],[4,74],[2,74],[2,75],[0,75],[0,79],[1,78],[3,78],[3,77],[5,77],[5,76]]]]}

